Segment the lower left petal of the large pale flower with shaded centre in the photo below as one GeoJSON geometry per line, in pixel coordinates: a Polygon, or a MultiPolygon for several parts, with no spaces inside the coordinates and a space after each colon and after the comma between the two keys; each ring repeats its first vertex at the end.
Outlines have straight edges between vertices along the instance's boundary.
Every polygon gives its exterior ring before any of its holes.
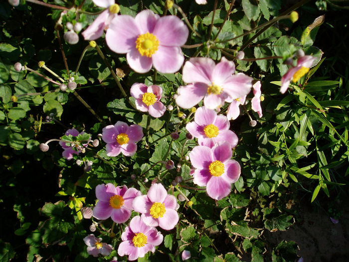
{"type": "Polygon", "coordinates": [[[207,93],[208,86],[203,83],[180,86],[177,90],[176,104],[181,108],[191,108],[197,105],[207,93]]]}

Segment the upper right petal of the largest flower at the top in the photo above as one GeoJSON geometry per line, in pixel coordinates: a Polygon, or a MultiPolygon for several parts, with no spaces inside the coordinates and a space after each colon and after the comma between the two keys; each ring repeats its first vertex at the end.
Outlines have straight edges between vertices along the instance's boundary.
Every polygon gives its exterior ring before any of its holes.
{"type": "Polygon", "coordinates": [[[157,21],[153,33],[157,36],[160,45],[181,46],[185,44],[189,30],[177,16],[166,15],[157,21]]]}

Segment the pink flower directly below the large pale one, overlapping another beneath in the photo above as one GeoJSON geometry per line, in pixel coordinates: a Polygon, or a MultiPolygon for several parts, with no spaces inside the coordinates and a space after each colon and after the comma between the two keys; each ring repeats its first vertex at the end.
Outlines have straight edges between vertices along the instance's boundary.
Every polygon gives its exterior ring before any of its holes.
{"type": "Polygon", "coordinates": [[[239,139],[229,127],[225,116],[217,116],[216,111],[204,106],[196,110],[194,122],[186,124],[186,130],[198,139],[199,145],[213,147],[218,142],[227,141],[234,148],[239,139]]]}

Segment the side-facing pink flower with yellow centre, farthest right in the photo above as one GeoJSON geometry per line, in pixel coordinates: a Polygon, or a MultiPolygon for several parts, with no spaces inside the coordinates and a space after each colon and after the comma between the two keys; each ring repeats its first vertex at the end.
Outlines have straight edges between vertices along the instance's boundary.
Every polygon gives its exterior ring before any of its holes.
{"type": "Polygon", "coordinates": [[[297,65],[288,69],[286,74],[281,78],[280,93],[284,94],[287,91],[290,82],[297,83],[298,80],[309,72],[310,67],[313,66],[315,57],[311,55],[305,55],[298,58],[297,65]]]}

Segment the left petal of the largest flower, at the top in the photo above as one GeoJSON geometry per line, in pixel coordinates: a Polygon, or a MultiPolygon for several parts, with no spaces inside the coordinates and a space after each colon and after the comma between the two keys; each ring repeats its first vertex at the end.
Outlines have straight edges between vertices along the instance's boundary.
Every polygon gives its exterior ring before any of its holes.
{"type": "Polygon", "coordinates": [[[136,40],[140,34],[131,15],[116,15],[109,23],[105,39],[112,51],[124,54],[136,48],[136,40]]]}

